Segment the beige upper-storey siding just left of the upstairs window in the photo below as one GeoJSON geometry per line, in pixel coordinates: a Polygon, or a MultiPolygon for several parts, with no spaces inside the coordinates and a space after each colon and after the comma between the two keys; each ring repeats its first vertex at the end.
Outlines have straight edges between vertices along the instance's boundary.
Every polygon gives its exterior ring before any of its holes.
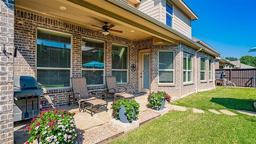
{"type": "Polygon", "coordinates": [[[142,0],[137,8],[150,17],[159,20],[160,4],[163,0],[142,0]]]}

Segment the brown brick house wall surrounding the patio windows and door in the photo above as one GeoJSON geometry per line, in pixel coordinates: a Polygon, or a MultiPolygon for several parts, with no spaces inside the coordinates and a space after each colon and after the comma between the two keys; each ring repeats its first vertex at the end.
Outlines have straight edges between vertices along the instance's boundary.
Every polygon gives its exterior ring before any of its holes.
{"type": "MultiPolygon", "coordinates": [[[[195,54],[195,49],[182,43],[170,44],[170,45],[154,45],[153,37],[143,39],[141,41],[134,41],[131,39],[115,36],[115,35],[103,35],[99,31],[94,32],[89,28],[74,25],[72,23],[56,20],[54,18],[44,17],[42,15],[15,10],[14,20],[14,45],[18,46],[18,58],[14,61],[14,75],[27,75],[35,76],[35,51],[36,51],[36,28],[47,28],[51,30],[57,30],[64,33],[73,35],[73,47],[72,47],[72,75],[73,77],[80,77],[82,75],[82,63],[81,63],[81,42],[82,37],[90,37],[105,41],[105,74],[111,76],[112,67],[112,43],[118,43],[129,46],[129,83],[121,86],[126,86],[127,91],[130,93],[138,92],[139,87],[139,50],[150,49],[151,51],[151,91],[166,91],[172,97],[181,97],[182,95],[188,95],[195,92],[195,58],[193,58],[193,83],[189,85],[183,85],[183,51],[195,54]],[[19,23],[19,21],[22,21],[19,23]],[[173,85],[158,84],[158,51],[159,50],[171,50],[175,53],[175,83],[173,85]],[[130,66],[134,63],[137,69],[132,72],[130,66]]],[[[197,64],[199,65],[201,56],[211,57],[211,55],[204,52],[198,52],[197,64]]],[[[197,84],[198,90],[213,89],[212,82],[206,81],[201,83],[200,79],[200,67],[198,66],[197,84]]],[[[207,75],[208,76],[208,75],[207,75]]],[[[89,90],[106,89],[105,86],[90,87],[89,90]]],[[[54,104],[57,106],[66,105],[68,102],[68,94],[71,89],[59,89],[49,90],[47,95],[54,97],[54,104]]],[[[41,98],[44,100],[44,98],[41,98]]],[[[49,106],[44,106],[47,108],[49,106]]]]}

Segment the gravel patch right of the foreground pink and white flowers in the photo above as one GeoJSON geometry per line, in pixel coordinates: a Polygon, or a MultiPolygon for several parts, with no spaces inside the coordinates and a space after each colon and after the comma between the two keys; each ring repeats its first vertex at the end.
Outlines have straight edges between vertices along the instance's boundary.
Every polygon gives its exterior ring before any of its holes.
{"type": "MultiPolygon", "coordinates": [[[[122,131],[117,130],[107,124],[85,131],[83,133],[82,139],[84,143],[98,143],[108,138],[111,138],[119,133],[122,133],[122,131]]],[[[80,138],[78,137],[78,139],[80,138]]]]}

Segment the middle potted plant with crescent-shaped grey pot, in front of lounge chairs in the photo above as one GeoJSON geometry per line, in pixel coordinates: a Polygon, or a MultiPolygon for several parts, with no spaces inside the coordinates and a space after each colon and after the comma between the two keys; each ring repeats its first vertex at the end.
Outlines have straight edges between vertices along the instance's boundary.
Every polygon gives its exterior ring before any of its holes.
{"type": "Polygon", "coordinates": [[[112,116],[122,123],[132,123],[137,120],[139,108],[139,103],[131,99],[119,99],[111,104],[112,116]]]}

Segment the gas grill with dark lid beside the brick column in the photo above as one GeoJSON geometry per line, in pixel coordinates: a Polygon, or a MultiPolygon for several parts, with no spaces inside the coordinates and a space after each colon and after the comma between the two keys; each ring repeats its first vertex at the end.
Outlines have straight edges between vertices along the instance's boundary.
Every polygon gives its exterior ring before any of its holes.
{"type": "Polygon", "coordinates": [[[42,94],[34,77],[14,76],[14,122],[38,116],[42,94]]]}

